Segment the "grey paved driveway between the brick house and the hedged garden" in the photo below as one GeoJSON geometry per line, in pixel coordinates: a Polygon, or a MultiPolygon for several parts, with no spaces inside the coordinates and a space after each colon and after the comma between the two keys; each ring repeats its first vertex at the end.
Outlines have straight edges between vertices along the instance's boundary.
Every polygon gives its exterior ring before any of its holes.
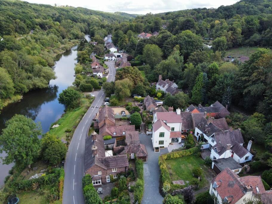
{"type": "Polygon", "coordinates": [[[161,149],[161,152],[154,152],[151,142],[151,136],[139,134],[141,144],[144,144],[148,153],[147,162],[144,163],[145,189],[142,204],[156,203],[161,204],[163,197],[159,193],[160,169],[159,156],[168,153],[167,148],[161,149]]]}

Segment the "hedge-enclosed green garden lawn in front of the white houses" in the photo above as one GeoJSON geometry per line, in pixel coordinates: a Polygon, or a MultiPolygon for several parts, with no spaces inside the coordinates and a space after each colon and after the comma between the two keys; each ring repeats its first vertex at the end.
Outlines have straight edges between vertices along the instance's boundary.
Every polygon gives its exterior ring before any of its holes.
{"type": "Polygon", "coordinates": [[[175,180],[184,180],[189,181],[189,185],[192,184],[193,174],[192,169],[194,167],[201,167],[203,169],[203,177],[200,181],[199,188],[203,188],[209,185],[209,182],[206,180],[206,177],[209,177],[208,168],[204,165],[204,160],[200,157],[195,157],[193,155],[186,157],[179,157],[176,159],[167,159],[165,160],[167,165],[171,166],[173,174],[171,175],[172,181],[175,180]]]}

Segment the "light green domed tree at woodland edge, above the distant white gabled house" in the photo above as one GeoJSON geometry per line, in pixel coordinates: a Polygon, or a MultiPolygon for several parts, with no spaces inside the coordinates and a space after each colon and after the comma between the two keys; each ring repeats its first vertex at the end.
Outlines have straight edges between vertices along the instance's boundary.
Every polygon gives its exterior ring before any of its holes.
{"type": "Polygon", "coordinates": [[[154,68],[155,65],[162,61],[162,50],[158,45],[145,45],[143,49],[143,59],[151,68],[154,68]]]}

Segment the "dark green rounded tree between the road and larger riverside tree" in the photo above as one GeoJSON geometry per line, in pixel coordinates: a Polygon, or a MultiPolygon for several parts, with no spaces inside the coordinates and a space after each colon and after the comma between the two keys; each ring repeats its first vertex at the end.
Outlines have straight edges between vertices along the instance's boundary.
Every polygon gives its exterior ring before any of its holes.
{"type": "Polygon", "coordinates": [[[55,135],[45,134],[41,140],[42,157],[50,164],[56,165],[62,161],[67,152],[67,147],[55,135]]]}

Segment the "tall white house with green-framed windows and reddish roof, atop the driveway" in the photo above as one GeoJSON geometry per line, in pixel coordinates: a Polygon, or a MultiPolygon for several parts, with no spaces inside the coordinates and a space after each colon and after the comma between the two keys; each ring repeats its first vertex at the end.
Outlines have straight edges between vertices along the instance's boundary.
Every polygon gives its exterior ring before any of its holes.
{"type": "Polygon", "coordinates": [[[180,109],[173,112],[173,108],[168,108],[169,112],[156,112],[153,116],[152,144],[155,147],[168,147],[170,143],[180,143],[184,136],[181,134],[182,118],[180,109]]]}

